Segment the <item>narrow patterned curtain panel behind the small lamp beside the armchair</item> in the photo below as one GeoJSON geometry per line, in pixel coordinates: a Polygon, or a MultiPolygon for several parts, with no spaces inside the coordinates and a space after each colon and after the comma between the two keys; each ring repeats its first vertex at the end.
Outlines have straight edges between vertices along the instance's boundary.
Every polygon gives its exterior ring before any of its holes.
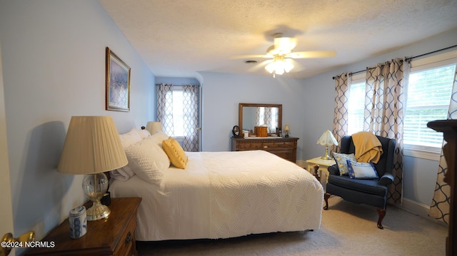
{"type": "MultiPolygon", "coordinates": [[[[348,134],[348,85],[348,73],[335,76],[335,112],[333,113],[332,133],[338,143],[341,143],[341,138],[348,134]]],[[[339,153],[340,146],[333,145],[331,151],[339,153]]]]}

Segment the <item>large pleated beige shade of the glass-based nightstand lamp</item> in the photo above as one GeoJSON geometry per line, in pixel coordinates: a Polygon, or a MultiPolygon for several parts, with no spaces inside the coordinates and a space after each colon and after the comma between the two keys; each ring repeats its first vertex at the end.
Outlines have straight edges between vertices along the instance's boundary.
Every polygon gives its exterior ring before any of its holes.
{"type": "Polygon", "coordinates": [[[104,173],[127,163],[111,116],[71,117],[57,167],[59,173],[104,173]]]}

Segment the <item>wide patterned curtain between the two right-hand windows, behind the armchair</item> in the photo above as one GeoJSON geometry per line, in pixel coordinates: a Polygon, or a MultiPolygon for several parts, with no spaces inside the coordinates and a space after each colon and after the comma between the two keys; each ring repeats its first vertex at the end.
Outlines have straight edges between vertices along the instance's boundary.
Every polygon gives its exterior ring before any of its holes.
{"type": "Polygon", "coordinates": [[[396,139],[393,157],[393,185],[388,202],[401,203],[403,194],[403,110],[409,64],[402,58],[366,68],[366,97],[363,130],[396,139]]]}

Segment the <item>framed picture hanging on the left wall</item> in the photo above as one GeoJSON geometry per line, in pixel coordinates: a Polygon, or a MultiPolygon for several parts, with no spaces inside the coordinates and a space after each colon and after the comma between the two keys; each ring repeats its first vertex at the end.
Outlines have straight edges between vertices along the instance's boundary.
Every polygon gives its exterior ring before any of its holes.
{"type": "Polygon", "coordinates": [[[130,111],[130,67],[106,47],[106,110],[130,111]]]}

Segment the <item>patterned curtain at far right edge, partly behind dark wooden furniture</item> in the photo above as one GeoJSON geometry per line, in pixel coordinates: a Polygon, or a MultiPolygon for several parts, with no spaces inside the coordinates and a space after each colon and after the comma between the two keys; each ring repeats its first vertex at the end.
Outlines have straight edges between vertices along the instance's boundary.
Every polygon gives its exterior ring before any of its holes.
{"type": "MultiPolygon", "coordinates": [[[[451,102],[449,103],[448,119],[457,119],[457,71],[454,74],[454,83],[451,94],[451,102]]],[[[446,141],[443,140],[443,146],[446,141]]],[[[448,170],[446,159],[441,149],[441,157],[438,165],[438,175],[436,177],[435,193],[431,201],[430,210],[428,215],[434,217],[436,220],[441,220],[449,224],[449,210],[451,209],[450,195],[451,187],[448,183],[444,182],[444,175],[448,170]]]]}

